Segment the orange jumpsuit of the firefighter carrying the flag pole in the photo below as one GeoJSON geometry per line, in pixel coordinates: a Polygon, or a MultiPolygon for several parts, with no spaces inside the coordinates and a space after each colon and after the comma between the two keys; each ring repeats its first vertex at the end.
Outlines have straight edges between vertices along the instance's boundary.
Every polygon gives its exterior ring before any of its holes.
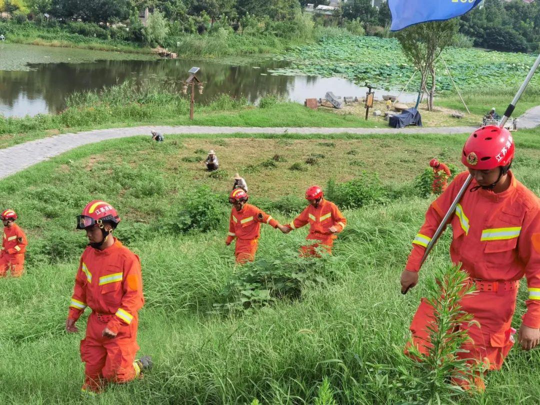
{"type": "MultiPolygon", "coordinates": [[[[448,189],[429,207],[426,222],[413,241],[406,269],[419,271],[420,260],[435,230],[463,185],[468,173],[459,174],[448,189]]],[[[467,333],[464,345],[474,358],[489,369],[499,369],[514,344],[510,325],[516,307],[518,280],[525,276],[529,288],[523,324],[540,328],[540,200],[509,172],[508,190],[495,194],[479,189],[475,180],[463,194],[449,224],[453,230],[450,257],[470,275],[477,292],[461,305],[478,325],[467,333]]],[[[427,326],[433,308],[422,299],[410,325],[413,344],[422,353],[430,347],[427,326]]]]}

